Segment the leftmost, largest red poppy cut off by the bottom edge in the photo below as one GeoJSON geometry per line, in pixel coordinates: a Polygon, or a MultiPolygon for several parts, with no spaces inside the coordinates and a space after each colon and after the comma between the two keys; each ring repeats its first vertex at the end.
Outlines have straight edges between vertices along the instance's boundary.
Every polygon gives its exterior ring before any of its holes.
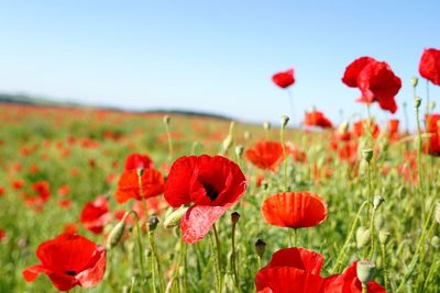
{"type": "Polygon", "coordinates": [[[323,257],[304,248],[284,248],[276,251],[270,263],[255,275],[258,293],[321,293],[326,280],[320,271],[323,257]]]}

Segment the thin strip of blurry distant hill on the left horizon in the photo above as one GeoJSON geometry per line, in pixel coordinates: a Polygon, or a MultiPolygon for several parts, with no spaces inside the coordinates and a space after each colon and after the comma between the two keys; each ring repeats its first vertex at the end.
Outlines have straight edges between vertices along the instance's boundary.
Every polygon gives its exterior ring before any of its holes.
{"type": "Polygon", "coordinates": [[[36,105],[36,106],[59,106],[59,108],[95,108],[102,110],[112,110],[112,111],[121,111],[121,112],[133,112],[133,113],[163,113],[163,114],[179,114],[187,116],[202,116],[202,117],[212,117],[219,120],[233,120],[232,117],[228,117],[226,115],[207,113],[207,112],[197,112],[190,110],[173,110],[173,109],[150,109],[144,111],[128,111],[122,110],[114,106],[100,106],[100,105],[85,105],[80,103],[74,102],[58,102],[53,101],[46,98],[33,97],[29,94],[20,94],[20,93],[0,93],[0,103],[11,103],[11,104],[28,104],[28,105],[36,105]]]}

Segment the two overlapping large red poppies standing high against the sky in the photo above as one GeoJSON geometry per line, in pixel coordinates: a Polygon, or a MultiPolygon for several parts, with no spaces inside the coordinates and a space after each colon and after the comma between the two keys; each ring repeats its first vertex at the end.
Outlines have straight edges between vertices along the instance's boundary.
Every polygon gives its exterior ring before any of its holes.
{"type": "Polygon", "coordinates": [[[361,98],[358,102],[378,102],[383,110],[392,113],[397,111],[395,95],[402,88],[402,80],[387,63],[366,56],[358,58],[345,68],[342,82],[360,89],[361,98]]]}

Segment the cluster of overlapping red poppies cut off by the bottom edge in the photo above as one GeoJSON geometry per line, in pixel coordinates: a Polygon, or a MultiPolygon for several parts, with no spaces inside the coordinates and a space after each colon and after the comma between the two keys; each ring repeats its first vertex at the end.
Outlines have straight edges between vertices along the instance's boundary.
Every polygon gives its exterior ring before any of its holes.
{"type": "MultiPolygon", "coordinates": [[[[361,293],[362,284],[356,277],[358,262],[342,274],[320,275],[323,257],[305,248],[283,248],[276,251],[266,267],[255,275],[258,293],[361,293]]],[[[371,281],[369,293],[385,293],[385,289],[371,281]]]]}

